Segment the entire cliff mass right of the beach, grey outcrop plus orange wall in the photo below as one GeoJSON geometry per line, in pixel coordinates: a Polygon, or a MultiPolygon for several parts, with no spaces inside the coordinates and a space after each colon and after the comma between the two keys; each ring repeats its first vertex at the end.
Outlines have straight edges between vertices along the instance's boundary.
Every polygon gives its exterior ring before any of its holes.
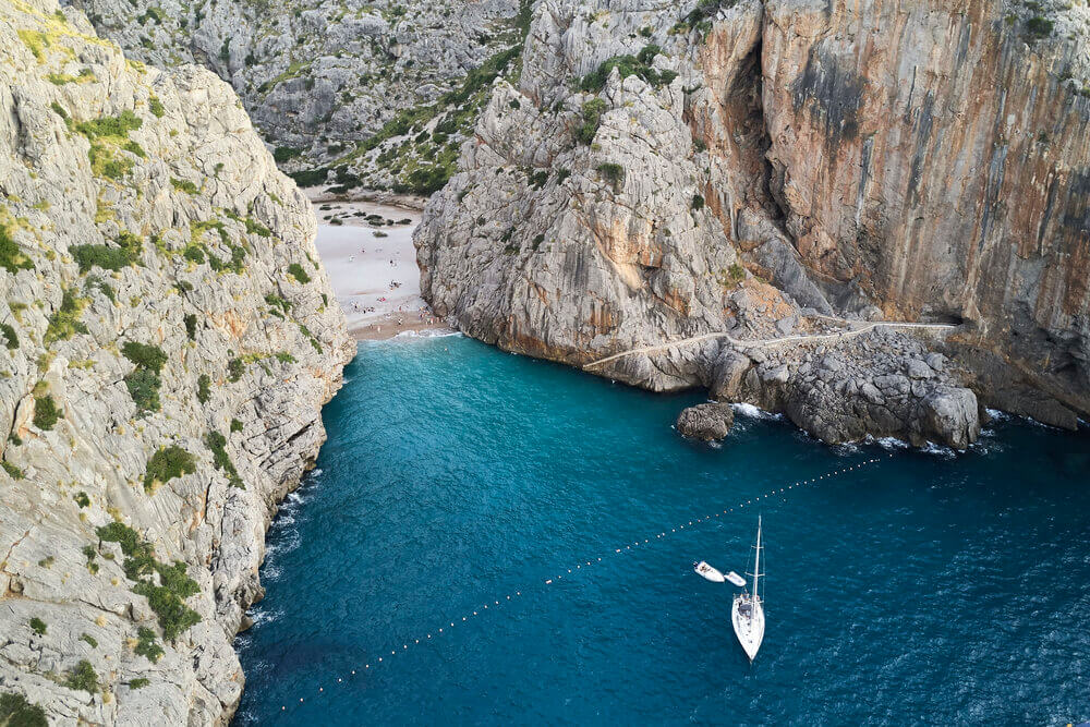
{"type": "Polygon", "coordinates": [[[829,441],[964,447],[978,396],[1073,426],[1090,11],[1040,7],[542,0],[425,211],[424,295],[505,349],[631,351],[593,371],[829,441]]]}

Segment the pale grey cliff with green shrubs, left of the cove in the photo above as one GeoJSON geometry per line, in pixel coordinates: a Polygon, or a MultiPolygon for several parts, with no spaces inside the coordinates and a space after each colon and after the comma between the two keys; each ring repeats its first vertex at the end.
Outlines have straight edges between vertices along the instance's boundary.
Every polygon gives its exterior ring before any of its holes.
{"type": "Polygon", "coordinates": [[[276,502],[353,348],[231,89],[0,3],[0,693],[225,724],[276,502]]]}

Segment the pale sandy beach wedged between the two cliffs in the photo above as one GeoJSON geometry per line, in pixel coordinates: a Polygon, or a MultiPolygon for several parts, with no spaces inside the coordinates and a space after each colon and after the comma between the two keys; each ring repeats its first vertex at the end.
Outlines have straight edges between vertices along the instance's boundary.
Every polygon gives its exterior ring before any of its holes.
{"type": "Polygon", "coordinates": [[[312,201],[315,244],[359,340],[448,330],[420,296],[412,232],[421,213],[373,202],[312,201]]]}

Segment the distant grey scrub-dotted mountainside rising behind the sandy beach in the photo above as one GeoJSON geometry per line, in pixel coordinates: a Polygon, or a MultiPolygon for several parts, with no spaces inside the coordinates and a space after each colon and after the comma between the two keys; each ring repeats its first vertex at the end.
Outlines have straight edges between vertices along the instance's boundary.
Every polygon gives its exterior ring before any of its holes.
{"type": "MultiPolygon", "coordinates": [[[[412,172],[441,166],[437,156],[452,167],[476,119],[479,107],[467,101],[481,100],[445,95],[522,36],[512,27],[518,0],[74,4],[130,58],[159,68],[198,63],[231,83],[287,169],[331,166],[342,184],[427,193],[433,190],[421,183],[427,180],[412,172]],[[392,123],[436,104],[428,120],[449,117],[441,138],[417,138],[420,130],[409,135],[403,122],[392,123]],[[382,148],[356,144],[376,134],[382,148]]],[[[305,179],[316,184],[325,177],[305,179]]]]}

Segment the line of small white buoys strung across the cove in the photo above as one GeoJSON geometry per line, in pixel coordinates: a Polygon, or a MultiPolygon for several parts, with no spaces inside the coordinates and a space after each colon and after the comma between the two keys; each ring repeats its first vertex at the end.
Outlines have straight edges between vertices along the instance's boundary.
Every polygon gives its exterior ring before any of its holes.
{"type": "MultiPolygon", "coordinates": [[[[889,453],[887,457],[893,457],[893,453],[889,453]]],[[[554,575],[552,578],[542,579],[542,581],[538,583],[538,585],[543,590],[547,589],[550,585],[555,585],[555,584],[559,583],[561,580],[564,580],[565,575],[568,575],[569,578],[571,575],[578,575],[583,570],[590,569],[591,567],[596,566],[597,564],[606,562],[606,559],[609,558],[609,556],[617,556],[617,555],[620,555],[620,554],[623,554],[623,553],[629,553],[633,548],[638,548],[641,545],[651,545],[651,544],[653,544],[656,541],[663,540],[663,538],[668,537],[668,536],[670,536],[670,535],[673,535],[675,533],[681,532],[686,528],[689,528],[689,530],[692,530],[693,528],[695,528],[697,525],[699,525],[701,523],[708,522],[711,520],[715,520],[716,518],[719,518],[719,517],[725,516],[725,514],[730,514],[732,512],[744,510],[746,506],[759,505],[762,500],[767,500],[770,497],[775,497],[777,495],[784,495],[784,494],[789,493],[790,490],[796,489],[796,488],[802,488],[802,487],[806,487],[806,486],[809,486],[809,485],[814,485],[814,484],[818,484],[820,482],[824,482],[826,480],[831,480],[831,478],[833,478],[833,477],[835,477],[837,475],[847,474],[849,472],[855,472],[857,470],[861,470],[863,467],[867,467],[869,464],[875,464],[875,463],[877,463],[880,461],[882,461],[882,459],[875,457],[875,458],[863,460],[862,462],[858,462],[858,463],[852,464],[850,467],[845,467],[845,468],[840,468],[838,470],[833,470],[831,472],[826,472],[825,474],[820,474],[820,475],[818,475],[815,477],[811,477],[809,480],[800,480],[800,481],[798,481],[798,482],[796,482],[794,484],[784,485],[783,487],[779,487],[779,488],[773,487],[772,489],[770,489],[766,493],[763,493],[763,494],[758,495],[755,497],[751,497],[751,498],[749,498],[749,499],[747,499],[744,501],[740,501],[740,502],[738,502],[737,505],[735,505],[732,507],[727,507],[723,511],[715,511],[715,512],[702,516],[700,518],[694,518],[694,519],[689,520],[689,521],[687,521],[685,523],[677,524],[674,528],[670,528],[669,530],[665,530],[664,529],[664,530],[659,531],[658,533],[656,533],[652,537],[644,537],[643,540],[635,540],[632,543],[626,543],[626,544],[623,544],[620,547],[613,548],[613,549],[604,553],[602,556],[595,556],[595,557],[592,557],[592,558],[590,558],[588,560],[581,560],[581,561],[574,564],[574,568],[560,569],[560,570],[557,571],[556,575],[554,575]]],[[[397,656],[398,654],[402,654],[402,653],[408,652],[411,646],[417,646],[417,645],[421,645],[421,644],[427,644],[427,642],[429,642],[429,641],[435,641],[440,635],[449,633],[450,630],[453,629],[457,625],[463,623],[463,622],[468,622],[469,619],[471,619],[471,618],[476,618],[479,616],[483,616],[484,613],[487,611],[487,610],[493,610],[493,611],[499,610],[504,606],[507,606],[507,605],[511,604],[512,602],[518,601],[520,597],[522,597],[522,591],[521,590],[520,591],[514,591],[513,593],[506,593],[506,594],[504,594],[501,596],[497,596],[497,597],[493,598],[492,601],[484,602],[483,605],[479,606],[475,610],[472,610],[471,613],[465,614],[464,616],[460,616],[460,617],[456,616],[452,619],[445,620],[443,622],[443,626],[440,626],[440,627],[438,627],[436,629],[433,629],[432,631],[421,632],[421,634],[417,634],[417,637],[414,637],[412,639],[403,639],[401,641],[400,649],[398,647],[398,644],[395,643],[392,645],[392,649],[389,650],[389,652],[390,652],[389,654],[387,654],[385,650],[382,651],[382,652],[378,652],[379,654],[382,654],[380,656],[377,656],[377,657],[371,659],[370,662],[364,662],[364,664],[362,666],[358,666],[355,669],[349,670],[349,673],[347,675],[342,675],[340,677],[337,677],[337,681],[335,682],[335,684],[343,684],[346,681],[351,681],[353,679],[353,677],[358,677],[360,675],[368,674],[371,671],[374,671],[380,665],[387,664],[392,657],[397,656]],[[491,606],[491,608],[489,608],[489,606],[491,606]]],[[[325,694],[326,694],[325,687],[318,686],[318,688],[314,692],[313,696],[323,696],[325,694]]],[[[304,704],[305,702],[306,702],[306,698],[305,696],[300,696],[299,701],[292,700],[291,702],[286,702],[286,703],[281,704],[281,706],[280,706],[280,714],[286,714],[288,712],[288,706],[289,705],[291,705],[291,706],[298,706],[300,704],[304,704]]]]}

